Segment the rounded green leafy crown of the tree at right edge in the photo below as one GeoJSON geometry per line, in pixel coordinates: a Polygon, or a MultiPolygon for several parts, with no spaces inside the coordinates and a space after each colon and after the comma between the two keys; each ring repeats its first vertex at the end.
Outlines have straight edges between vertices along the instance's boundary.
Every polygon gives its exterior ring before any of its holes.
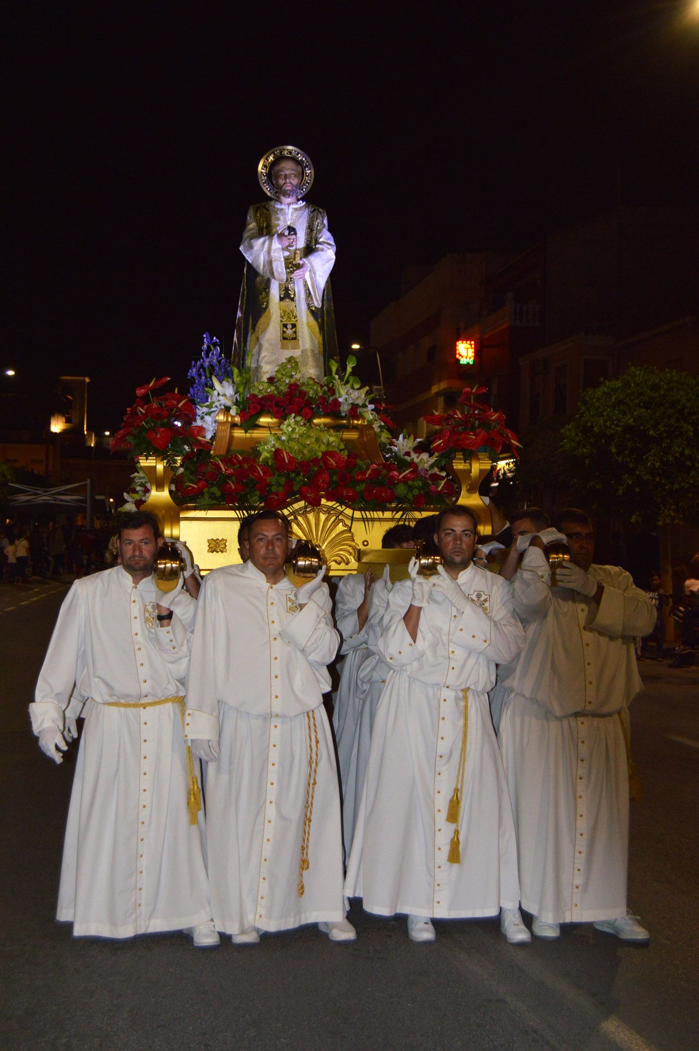
{"type": "Polygon", "coordinates": [[[699,377],[631,368],[588,391],[561,432],[587,506],[649,528],[699,521],[699,377]]]}

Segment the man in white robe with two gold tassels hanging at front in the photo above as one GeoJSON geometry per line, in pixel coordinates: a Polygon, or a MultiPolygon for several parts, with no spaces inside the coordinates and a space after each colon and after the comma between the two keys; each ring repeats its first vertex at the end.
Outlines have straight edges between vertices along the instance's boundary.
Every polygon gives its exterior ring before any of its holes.
{"type": "Polygon", "coordinates": [[[510,942],[530,934],[518,911],[512,808],[488,708],[495,664],[525,633],[511,585],[473,564],[476,523],[461,507],[437,518],[434,579],[393,585],[378,643],[391,669],[374,719],[346,880],[381,915],[408,913],[413,941],[432,916],[500,913],[510,942]]]}

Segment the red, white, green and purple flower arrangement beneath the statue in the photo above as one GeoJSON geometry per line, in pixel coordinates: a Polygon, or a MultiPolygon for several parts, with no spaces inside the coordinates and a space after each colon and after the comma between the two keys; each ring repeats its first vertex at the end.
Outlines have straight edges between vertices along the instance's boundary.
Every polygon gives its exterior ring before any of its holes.
{"type": "MultiPolygon", "coordinates": [[[[127,448],[136,459],[162,457],[176,472],[173,498],[201,509],[251,512],[300,501],[318,507],[325,500],[359,513],[390,508],[406,516],[453,501],[459,483],[451,461],[459,452],[485,450],[497,459],[509,446],[517,454],[516,435],[505,427],[502,413],[476,400],[486,388],[467,388],[456,409],[424,417],[436,428],[428,438],[393,437],[386,406],[372,400],[370,389],[352,372],[355,364],[349,357],[341,372],[332,362],[322,380],[304,379],[297,360],[289,357],[275,375],[252,384],[206,333],[202,355],[188,373],[189,394],[162,392],[167,377],[138,388],[111,448],[127,448]],[[263,416],[276,423],[249,451],[214,454],[221,409],[235,415],[245,432],[259,427],[263,416]],[[341,433],[314,426],[320,416],[369,425],[383,462],[362,459],[346,448],[341,433]]],[[[142,482],[137,475],[133,479],[133,496],[143,499],[142,482]]]]}

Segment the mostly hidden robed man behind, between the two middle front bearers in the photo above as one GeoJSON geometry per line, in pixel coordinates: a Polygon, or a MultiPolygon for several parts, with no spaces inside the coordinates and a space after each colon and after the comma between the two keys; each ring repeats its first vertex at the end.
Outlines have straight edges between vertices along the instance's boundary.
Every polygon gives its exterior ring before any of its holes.
{"type": "MultiPolygon", "coordinates": [[[[382,548],[387,551],[414,547],[411,526],[391,526],[382,537],[382,548]]],[[[343,638],[341,652],[345,654],[345,659],[332,724],[343,788],[347,858],[352,849],[354,824],[367,772],[371,727],[383,688],[382,678],[385,678],[383,662],[375,648],[372,650],[372,643],[375,647],[378,641],[391,589],[388,569],[387,565],[381,580],[374,580],[371,570],[365,574],[348,574],[340,581],[335,596],[335,623],[343,638]]]]}

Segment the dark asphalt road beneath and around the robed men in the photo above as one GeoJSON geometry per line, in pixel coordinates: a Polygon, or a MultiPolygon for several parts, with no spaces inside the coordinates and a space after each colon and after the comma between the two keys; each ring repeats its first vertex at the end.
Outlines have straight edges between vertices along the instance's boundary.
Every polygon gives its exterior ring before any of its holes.
{"type": "Polygon", "coordinates": [[[3,1051],[697,1047],[699,668],[644,662],[633,708],[630,905],[649,948],[572,925],[509,946],[496,921],[437,922],[413,945],[358,903],[351,945],[313,927],[208,951],[180,933],[74,940],[54,916],[75,750],[55,766],[26,716],[64,593],[0,585],[3,1051]]]}

